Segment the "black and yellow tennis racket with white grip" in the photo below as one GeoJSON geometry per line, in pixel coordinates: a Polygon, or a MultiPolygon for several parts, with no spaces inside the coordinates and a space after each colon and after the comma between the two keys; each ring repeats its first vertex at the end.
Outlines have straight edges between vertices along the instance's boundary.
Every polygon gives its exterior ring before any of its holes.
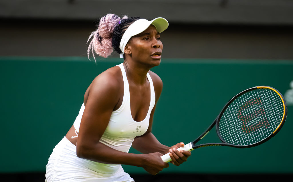
{"type": "MultiPolygon", "coordinates": [[[[252,87],[234,96],[203,134],[177,150],[193,151],[205,146],[257,146],[277,134],[286,116],[287,105],[279,91],[268,86],[252,87]],[[196,145],[214,125],[222,143],[196,145]]],[[[169,154],[161,156],[164,162],[171,161],[169,154]]]]}

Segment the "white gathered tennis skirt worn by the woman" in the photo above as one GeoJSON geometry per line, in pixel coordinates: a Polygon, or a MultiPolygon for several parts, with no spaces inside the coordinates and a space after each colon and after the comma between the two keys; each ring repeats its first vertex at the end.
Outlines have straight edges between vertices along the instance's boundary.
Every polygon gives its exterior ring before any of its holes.
{"type": "Polygon", "coordinates": [[[63,138],[53,149],[46,165],[46,180],[132,182],[120,164],[103,164],[76,156],[76,146],[63,138]]]}

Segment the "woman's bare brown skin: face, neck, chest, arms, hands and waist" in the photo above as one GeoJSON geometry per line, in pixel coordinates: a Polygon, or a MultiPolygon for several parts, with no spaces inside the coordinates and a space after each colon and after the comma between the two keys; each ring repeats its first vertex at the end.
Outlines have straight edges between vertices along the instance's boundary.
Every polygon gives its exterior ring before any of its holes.
{"type": "Polygon", "coordinates": [[[118,66],[109,68],[98,75],[84,95],[85,110],[81,119],[78,137],[74,126],[69,129],[66,138],[76,145],[78,157],[105,164],[126,164],[144,168],[152,175],[169,166],[161,156],[171,152],[171,163],[179,166],[190,156],[188,151],[177,151],[184,146],[182,142],[171,147],[161,144],[151,133],[156,103],[163,88],[162,80],[151,68],[161,62],[163,44],[156,28],[151,25],[144,32],[134,36],[125,46],[123,66],[126,71],[130,90],[130,110],[134,121],[142,121],[148,112],[150,102],[150,83],[147,73],[154,84],[155,105],[151,110],[149,128],[142,136],[134,138],[132,147],[142,154],[117,151],[100,142],[108,126],[111,114],[117,110],[123,100],[124,84],[118,66]]]}

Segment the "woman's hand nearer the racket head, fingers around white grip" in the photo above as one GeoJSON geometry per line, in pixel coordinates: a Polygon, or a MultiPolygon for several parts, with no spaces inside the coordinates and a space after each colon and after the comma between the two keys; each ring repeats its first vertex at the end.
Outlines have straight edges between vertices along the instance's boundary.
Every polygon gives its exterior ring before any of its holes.
{"type": "Polygon", "coordinates": [[[184,143],[180,142],[176,145],[173,145],[170,147],[169,151],[170,152],[170,157],[172,159],[172,161],[170,161],[172,164],[179,166],[180,164],[182,164],[183,162],[187,161],[187,158],[191,155],[191,152],[189,151],[185,151],[185,150],[176,150],[180,147],[183,147],[184,143]]]}

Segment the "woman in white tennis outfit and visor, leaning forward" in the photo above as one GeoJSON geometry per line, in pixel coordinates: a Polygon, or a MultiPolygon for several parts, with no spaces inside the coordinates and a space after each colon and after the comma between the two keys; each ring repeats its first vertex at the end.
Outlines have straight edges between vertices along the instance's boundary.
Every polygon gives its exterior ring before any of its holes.
{"type": "MultiPolygon", "coordinates": [[[[124,62],[98,75],[84,95],[84,104],[66,136],[53,149],[46,181],[134,181],[121,164],[139,166],[155,175],[169,166],[161,156],[171,152],[180,165],[190,152],[161,144],[151,133],[162,81],[150,69],[161,62],[160,34],[164,18],[120,19],[108,14],[88,39],[88,55],[120,53],[124,62]],[[142,154],[128,153],[130,146],[142,154]]],[[[96,59],[95,59],[96,60],[96,59]]]]}

